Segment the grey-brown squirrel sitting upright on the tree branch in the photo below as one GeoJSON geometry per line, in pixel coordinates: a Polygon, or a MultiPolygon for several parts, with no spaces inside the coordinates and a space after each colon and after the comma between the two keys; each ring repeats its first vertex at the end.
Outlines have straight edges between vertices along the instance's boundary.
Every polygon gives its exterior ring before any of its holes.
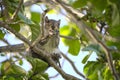
{"type": "MultiPolygon", "coordinates": [[[[43,28],[43,37],[38,42],[40,48],[47,51],[51,54],[52,59],[55,61],[56,64],[60,66],[59,59],[61,58],[61,51],[58,48],[59,45],[59,26],[60,26],[60,20],[53,20],[48,19],[48,17],[45,17],[45,24],[43,28]]],[[[43,61],[47,62],[44,58],[42,58],[37,53],[32,52],[32,57],[42,59],[43,61]]],[[[49,64],[48,64],[49,65],[49,64]]]]}

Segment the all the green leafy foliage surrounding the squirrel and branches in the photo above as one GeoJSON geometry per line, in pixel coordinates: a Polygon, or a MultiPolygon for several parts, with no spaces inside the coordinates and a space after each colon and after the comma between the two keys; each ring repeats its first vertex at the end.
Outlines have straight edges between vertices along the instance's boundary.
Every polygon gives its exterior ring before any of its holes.
{"type": "MultiPolygon", "coordinates": [[[[31,17],[26,17],[24,10],[26,9],[23,5],[17,14],[17,17],[12,22],[7,22],[13,16],[16,8],[18,7],[19,0],[2,0],[4,7],[7,12],[3,14],[2,8],[0,10],[0,20],[6,22],[13,30],[19,32],[22,27],[27,25],[30,29],[31,35],[30,40],[34,41],[40,34],[40,22],[41,14],[38,12],[29,11],[31,17]],[[24,26],[21,26],[24,24],[24,26]]],[[[69,2],[69,1],[68,1],[69,2]]],[[[76,10],[80,10],[81,13],[85,13],[82,20],[92,30],[96,31],[96,35],[99,40],[107,46],[110,50],[115,68],[117,73],[120,75],[120,0],[70,0],[69,4],[76,10]],[[100,26],[98,26],[100,24],[100,26]],[[105,26],[108,26],[107,28],[105,26]],[[97,30],[99,28],[100,30],[97,30]],[[105,30],[105,31],[104,31],[105,30]],[[106,39],[104,37],[110,37],[106,39]]],[[[51,10],[52,13],[54,13],[51,10]]],[[[27,30],[26,30],[27,31],[27,30]]],[[[6,33],[9,31],[5,30],[0,26],[0,39],[2,40],[6,33]]],[[[27,31],[29,32],[29,31],[27,31]]],[[[68,46],[68,52],[71,55],[78,56],[80,49],[82,51],[89,52],[86,55],[82,63],[84,66],[84,73],[90,80],[114,80],[113,75],[108,66],[108,62],[105,56],[105,52],[97,43],[91,41],[83,34],[82,31],[72,22],[62,26],[60,28],[60,34],[64,36],[70,36],[74,39],[62,38],[63,43],[68,46]],[[97,54],[96,61],[89,61],[91,54],[95,52],[97,54]]],[[[24,35],[24,34],[23,34],[24,35]]],[[[1,46],[1,45],[0,45],[1,46]]],[[[81,53],[82,54],[82,53],[81,53]]],[[[5,56],[5,54],[3,55],[5,56]]],[[[21,55],[22,56],[22,55],[21,55]]],[[[15,57],[12,57],[12,59],[15,57]]],[[[41,59],[27,57],[25,58],[31,65],[30,71],[25,71],[21,66],[18,66],[14,60],[7,60],[0,63],[0,80],[49,80],[48,74],[45,70],[48,68],[48,64],[41,59]]],[[[20,61],[20,59],[17,59],[20,61]]],[[[22,65],[20,61],[20,65],[22,65]]]]}

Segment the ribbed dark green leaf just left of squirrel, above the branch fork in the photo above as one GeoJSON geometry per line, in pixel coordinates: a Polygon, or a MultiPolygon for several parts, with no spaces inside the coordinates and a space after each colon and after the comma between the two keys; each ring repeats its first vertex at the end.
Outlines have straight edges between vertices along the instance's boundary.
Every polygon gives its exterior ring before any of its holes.
{"type": "Polygon", "coordinates": [[[32,41],[34,41],[40,35],[40,25],[39,24],[32,24],[30,25],[31,32],[32,32],[32,41]]]}

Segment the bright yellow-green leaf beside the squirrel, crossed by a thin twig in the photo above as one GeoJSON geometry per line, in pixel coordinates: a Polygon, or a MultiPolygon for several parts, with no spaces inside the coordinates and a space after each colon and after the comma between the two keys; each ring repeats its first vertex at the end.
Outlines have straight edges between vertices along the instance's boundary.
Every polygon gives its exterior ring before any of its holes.
{"type": "MultiPolygon", "coordinates": [[[[77,31],[76,28],[66,25],[60,29],[60,34],[76,37],[76,31],[77,31]]],[[[79,51],[80,51],[79,40],[71,40],[71,39],[65,39],[65,38],[62,40],[66,46],[69,46],[68,52],[70,54],[75,56],[79,54],[79,51]]]]}

